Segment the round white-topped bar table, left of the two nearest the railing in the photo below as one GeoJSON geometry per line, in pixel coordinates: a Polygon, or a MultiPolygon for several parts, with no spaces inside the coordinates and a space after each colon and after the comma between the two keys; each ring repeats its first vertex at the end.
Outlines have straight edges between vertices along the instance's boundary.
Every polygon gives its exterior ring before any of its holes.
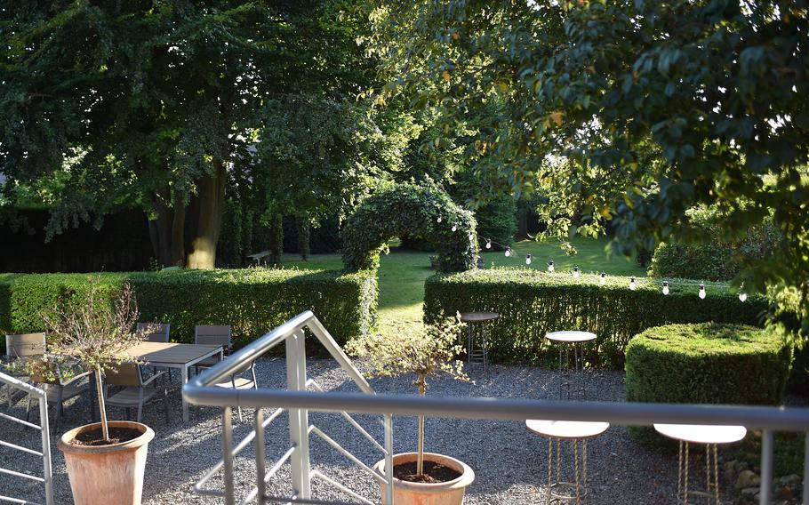
{"type": "Polygon", "coordinates": [[[525,426],[542,437],[548,437],[548,491],[546,502],[587,503],[587,440],[604,433],[608,422],[543,421],[529,419],[525,426]],[[563,480],[562,440],[569,440],[573,448],[573,479],[563,480]],[[554,450],[556,441],[556,450],[554,450]],[[581,444],[579,443],[581,441],[581,444]],[[581,447],[581,452],[580,452],[581,447]],[[556,456],[556,481],[553,478],[556,456]]]}

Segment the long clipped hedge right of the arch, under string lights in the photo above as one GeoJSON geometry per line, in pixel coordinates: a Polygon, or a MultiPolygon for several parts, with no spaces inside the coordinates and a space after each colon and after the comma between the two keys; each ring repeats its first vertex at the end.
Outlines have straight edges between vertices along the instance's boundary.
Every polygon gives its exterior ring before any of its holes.
{"type": "MultiPolygon", "coordinates": [[[[669,295],[660,281],[637,278],[629,290],[629,277],[600,277],[533,269],[471,270],[435,275],[425,285],[424,319],[469,311],[501,315],[492,326],[490,356],[500,362],[541,362],[549,358],[545,333],[581,329],[594,332],[596,344],[588,360],[598,366],[620,368],[629,339],[646,328],[672,323],[735,323],[759,325],[767,308],[765,298],[739,301],[724,286],[706,285],[701,300],[698,286],[671,281],[669,295]]],[[[691,282],[693,281],[685,281],[691,282]]]]}

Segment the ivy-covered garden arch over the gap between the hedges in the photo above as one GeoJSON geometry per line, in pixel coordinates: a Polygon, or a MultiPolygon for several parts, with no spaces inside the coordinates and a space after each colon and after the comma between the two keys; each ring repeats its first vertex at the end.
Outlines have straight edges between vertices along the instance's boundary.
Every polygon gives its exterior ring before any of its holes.
{"type": "Polygon", "coordinates": [[[397,183],[366,198],[348,216],[342,232],[343,264],[348,271],[377,269],[388,240],[413,236],[436,246],[440,271],[475,269],[476,227],[472,212],[442,189],[397,183]]]}

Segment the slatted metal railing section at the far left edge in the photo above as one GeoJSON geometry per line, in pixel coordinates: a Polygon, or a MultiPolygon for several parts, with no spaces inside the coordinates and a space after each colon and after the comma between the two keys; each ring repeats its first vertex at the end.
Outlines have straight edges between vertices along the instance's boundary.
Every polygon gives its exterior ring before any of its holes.
{"type": "MultiPolygon", "coordinates": [[[[19,423],[23,426],[32,429],[38,429],[42,433],[42,452],[34,449],[23,447],[21,445],[12,444],[6,440],[0,439],[0,446],[7,447],[12,451],[20,451],[20,453],[32,454],[36,457],[42,458],[42,477],[36,477],[27,473],[17,472],[11,469],[4,469],[0,467],[0,474],[9,475],[28,480],[33,480],[44,484],[45,487],[45,503],[46,505],[53,505],[53,476],[51,469],[51,437],[48,430],[48,397],[44,390],[35,388],[30,384],[13,378],[11,375],[0,373],[0,383],[11,388],[12,391],[9,395],[13,395],[15,391],[20,390],[25,394],[36,397],[39,403],[39,425],[32,422],[23,421],[11,415],[0,413],[0,420],[12,421],[19,423]]],[[[0,501],[11,501],[12,503],[33,503],[32,501],[13,498],[12,496],[0,495],[0,501]]]]}

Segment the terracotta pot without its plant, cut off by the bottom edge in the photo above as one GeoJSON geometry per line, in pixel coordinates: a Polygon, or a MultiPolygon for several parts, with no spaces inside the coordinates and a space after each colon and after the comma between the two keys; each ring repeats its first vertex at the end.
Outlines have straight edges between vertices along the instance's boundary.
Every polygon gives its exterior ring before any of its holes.
{"type": "MultiPolygon", "coordinates": [[[[394,454],[393,464],[409,463],[416,461],[417,453],[394,454]]],[[[461,474],[461,477],[448,482],[437,484],[427,484],[421,482],[407,482],[393,479],[393,500],[396,505],[461,505],[466,488],[475,481],[475,471],[463,461],[458,461],[449,456],[436,453],[424,453],[424,461],[434,461],[441,463],[445,467],[451,468],[461,474]]],[[[380,476],[385,475],[385,460],[378,461],[373,465],[373,469],[380,476]]],[[[380,480],[382,493],[382,504],[388,504],[385,500],[386,484],[380,480]]]]}

